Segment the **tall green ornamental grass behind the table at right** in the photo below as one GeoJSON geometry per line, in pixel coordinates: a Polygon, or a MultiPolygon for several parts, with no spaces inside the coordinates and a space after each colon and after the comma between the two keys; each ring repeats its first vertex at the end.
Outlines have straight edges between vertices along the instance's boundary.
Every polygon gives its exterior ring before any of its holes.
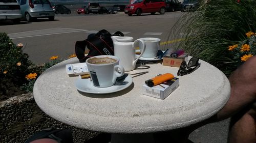
{"type": "Polygon", "coordinates": [[[173,48],[184,49],[229,75],[239,64],[228,50],[256,31],[255,0],[200,1],[197,11],[186,12],[168,39],[182,39],[173,48]]]}

